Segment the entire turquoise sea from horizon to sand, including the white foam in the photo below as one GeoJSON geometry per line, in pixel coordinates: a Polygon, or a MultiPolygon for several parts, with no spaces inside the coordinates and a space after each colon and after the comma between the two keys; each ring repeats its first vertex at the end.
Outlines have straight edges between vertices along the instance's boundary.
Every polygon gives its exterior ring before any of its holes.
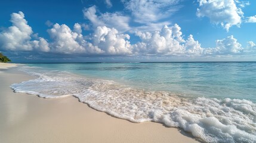
{"type": "Polygon", "coordinates": [[[256,63],[30,63],[14,92],[73,96],[130,122],[157,122],[202,142],[256,142],[256,63]]]}

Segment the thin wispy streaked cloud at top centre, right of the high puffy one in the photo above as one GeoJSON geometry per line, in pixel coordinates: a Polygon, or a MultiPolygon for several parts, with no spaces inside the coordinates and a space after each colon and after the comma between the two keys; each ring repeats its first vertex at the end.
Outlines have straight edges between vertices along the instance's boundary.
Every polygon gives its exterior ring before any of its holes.
{"type": "Polygon", "coordinates": [[[132,21],[138,26],[132,27],[129,32],[155,32],[161,30],[163,26],[169,26],[170,17],[180,10],[182,0],[122,0],[124,7],[132,17],[132,21]]]}

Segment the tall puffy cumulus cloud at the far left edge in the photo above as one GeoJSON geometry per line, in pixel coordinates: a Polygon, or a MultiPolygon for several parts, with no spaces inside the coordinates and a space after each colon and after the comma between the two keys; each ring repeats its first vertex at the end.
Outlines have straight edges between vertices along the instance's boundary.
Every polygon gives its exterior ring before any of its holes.
{"type": "Polygon", "coordinates": [[[32,40],[32,27],[27,24],[24,13],[11,14],[11,23],[13,26],[8,27],[0,33],[0,48],[11,51],[49,51],[48,42],[44,38],[32,40]]]}

